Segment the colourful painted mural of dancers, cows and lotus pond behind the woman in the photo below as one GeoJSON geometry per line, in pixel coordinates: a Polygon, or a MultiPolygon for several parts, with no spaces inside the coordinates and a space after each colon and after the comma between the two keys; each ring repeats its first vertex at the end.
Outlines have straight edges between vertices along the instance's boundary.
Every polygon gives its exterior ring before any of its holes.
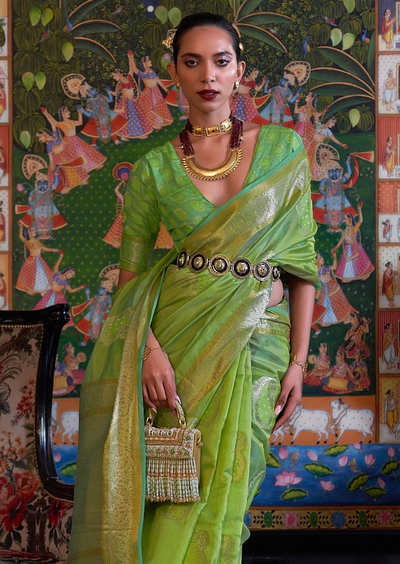
{"type": "MultiPolygon", "coordinates": [[[[118,280],[128,175],[188,118],[162,40],[186,13],[217,11],[245,47],[232,111],[303,139],[322,284],[304,397],[271,438],[246,523],[398,528],[400,2],[15,0],[12,10],[0,0],[0,308],[70,305],[52,407],[60,477],[74,481],[79,390],[118,280]]],[[[160,224],[153,263],[171,247],[160,224]]]]}

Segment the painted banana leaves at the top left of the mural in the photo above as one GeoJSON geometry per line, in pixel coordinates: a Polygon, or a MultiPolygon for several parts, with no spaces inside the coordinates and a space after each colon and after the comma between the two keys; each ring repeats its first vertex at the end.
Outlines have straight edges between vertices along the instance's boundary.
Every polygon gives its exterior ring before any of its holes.
{"type": "Polygon", "coordinates": [[[95,39],[86,37],[93,33],[115,33],[121,28],[112,21],[107,20],[85,20],[85,17],[95,8],[104,4],[106,0],[87,0],[83,4],[77,6],[75,10],[68,14],[66,0],[59,0],[60,10],[63,12],[66,21],[66,30],[70,32],[74,38],[75,49],[91,51],[101,56],[109,63],[115,63],[115,58],[108,49],[101,45],[95,39]]]}

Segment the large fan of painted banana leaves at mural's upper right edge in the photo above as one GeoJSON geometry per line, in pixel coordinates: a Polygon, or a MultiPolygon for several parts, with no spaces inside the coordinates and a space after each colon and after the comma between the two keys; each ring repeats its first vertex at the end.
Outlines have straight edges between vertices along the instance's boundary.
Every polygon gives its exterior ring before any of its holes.
{"type": "Polygon", "coordinates": [[[325,119],[346,108],[366,109],[375,103],[375,32],[368,46],[366,67],[353,56],[335,47],[318,47],[319,52],[335,67],[312,69],[311,78],[318,81],[313,91],[318,95],[334,96],[325,119]]]}

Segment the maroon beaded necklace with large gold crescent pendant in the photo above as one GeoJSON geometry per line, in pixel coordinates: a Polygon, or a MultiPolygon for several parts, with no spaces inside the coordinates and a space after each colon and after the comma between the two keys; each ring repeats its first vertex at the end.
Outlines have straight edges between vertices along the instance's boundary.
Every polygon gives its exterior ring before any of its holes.
{"type": "MultiPolygon", "coordinates": [[[[208,128],[212,128],[212,127],[218,127],[220,129],[221,125],[225,124],[225,122],[227,121],[228,120],[224,120],[223,122],[221,122],[220,125],[217,126],[212,125],[205,127],[204,129],[207,130],[208,128]]],[[[232,122],[232,126],[231,126],[232,133],[230,134],[228,157],[226,157],[223,164],[217,166],[217,168],[215,169],[207,169],[205,166],[201,166],[197,162],[194,156],[193,146],[192,143],[190,142],[189,134],[188,134],[188,131],[192,133],[193,126],[192,124],[190,124],[190,122],[186,123],[185,129],[181,131],[181,133],[179,134],[179,139],[180,142],[182,143],[180,149],[182,149],[185,155],[181,162],[184,166],[184,169],[186,170],[186,173],[200,180],[219,180],[220,178],[227,177],[229,174],[233,173],[233,171],[238,168],[239,163],[242,160],[242,152],[243,152],[242,149],[239,149],[239,146],[243,140],[243,121],[239,117],[234,116],[232,113],[229,116],[229,121],[232,122]]],[[[221,133],[221,131],[217,131],[216,133],[211,133],[211,135],[218,135],[219,133],[221,133]]],[[[203,131],[202,131],[202,135],[203,135],[203,131]]],[[[206,135],[210,136],[210,134],[207,133],[206,135]]]]}

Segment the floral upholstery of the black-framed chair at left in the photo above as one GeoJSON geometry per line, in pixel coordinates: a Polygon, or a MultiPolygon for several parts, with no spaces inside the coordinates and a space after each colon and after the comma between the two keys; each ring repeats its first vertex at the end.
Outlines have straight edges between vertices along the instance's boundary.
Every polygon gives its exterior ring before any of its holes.
{"type": "Polygon", "coordinates": [[[35,393],[43,324],[0,323],[0,562],[65,562],[72,505],[35,467],[35,393]]]}

